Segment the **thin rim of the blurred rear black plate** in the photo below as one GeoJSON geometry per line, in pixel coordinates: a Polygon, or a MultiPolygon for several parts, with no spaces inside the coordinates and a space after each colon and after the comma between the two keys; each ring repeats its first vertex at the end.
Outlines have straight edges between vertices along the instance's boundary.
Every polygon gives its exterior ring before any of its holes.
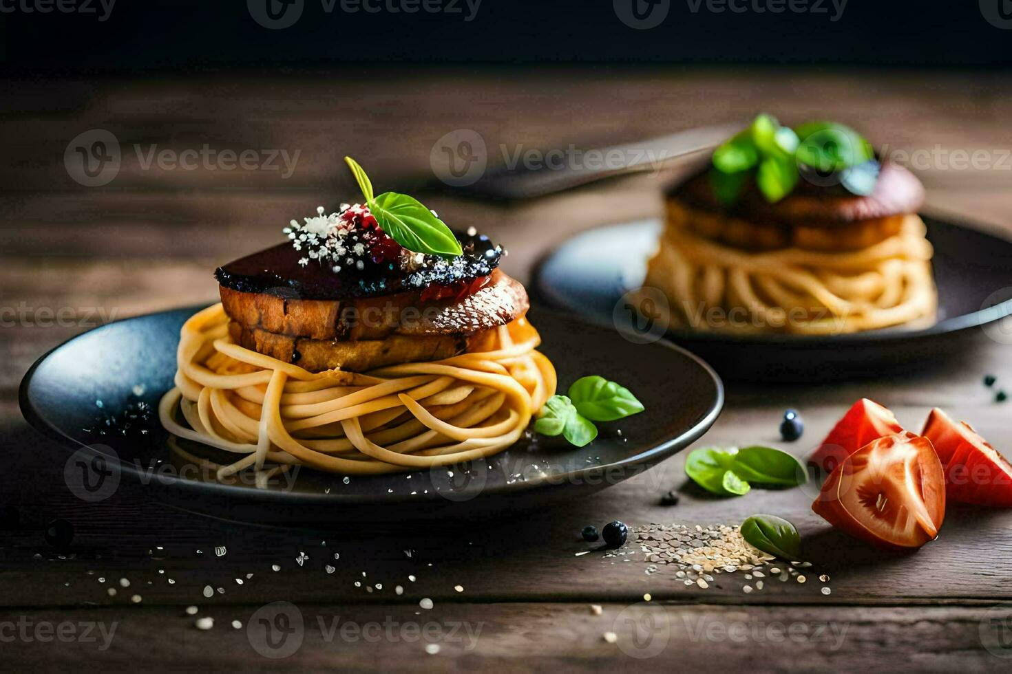
{"type": "MultiPolygon", "coordinates": [[[[940,221],[949,226],[960,229],[969,229],[975,233],[990,236],[991,238],[996,238],[1012,246],[1012,236],[999,235],[995,225],[987,224],[985,222],[960,215],[951,215],[945,211],[932,211],[929,209],[921,211],[918,214],[932,220],[940,221]]],[[[655,217],[643,217],[636,220],[607,222],[593,227],[587,227],[586,229],[581,229],[572,236],[551,248],[546,253],[543,253],[534,261],[534,265],[531,268],[531,280],[529,286],[533,289],[535,297],[537,297],[544,304],[557,309],[568,311],[573,315],[596,325],[600,326],[610,324],[610,321],[605,320],[601,315],[579,311],[578,308],[574,306],[573,302],[566,299],[553,286],[546,285],[544,283],[544,268],[558,257],[559,253],[564,248],[572,245],[581,236],[603,229],[612,229],[632,225],[646,225],[648,223],[663,225],[663,216],[658,215],[655,217]]],[[[682,344],[728,344],[736,346],[751,345],[777,347],[790,346],[816,349],[835,346],[867,347],[880,345],[882,343],[896,343],[904,340],[921,341],[932,338],[937,339],[946,335],[953,335],[974,327],[983,327],[984,325],[988,325],[1010,315],[1012,315],[1012,299],[1005,300],[992,307],[988,307],[987,309],[981,308],[971,313],[963,313],[957,316],[943,318],[929,327],[909,331],[884,328],[865,330],[862,332],[846,332],[835,335],[789,333],[739,334],[718,331],[705,332],[701,330],[682,328],[665,330],[663,339],[667,341],[678,341],[682,344]]]]}

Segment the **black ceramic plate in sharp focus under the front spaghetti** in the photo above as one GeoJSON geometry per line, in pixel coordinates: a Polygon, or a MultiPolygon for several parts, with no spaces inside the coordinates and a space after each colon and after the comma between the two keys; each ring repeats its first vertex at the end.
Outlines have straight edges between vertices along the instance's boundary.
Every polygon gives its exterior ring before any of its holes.
{"type": "Polygon", "coordinates": [[[208,462],[226,463],[227,457],[170,437],[157,416],[158,400],[175,374],[179,328],[195,310],[109,323],[53,350],[25,375],[21,410],[65,448],[58,460],[82,498],[107,497],[119,480],[140,478],[154,498],[246,521],[393,521],[444,511],[486,516],[541,507],[631,477],[702,436],[724,404],[713,371],[681,349],[635,345],[613,329],[532,309],[541,351],[562,386],[598,374],[627,386],[646,411],[601,424],[597,439],[582,449],[559,439],[527,440],[487,462],[431,471],[346,482],[304,469],[266,487],[246,477],[223,484],[208,462]]]}

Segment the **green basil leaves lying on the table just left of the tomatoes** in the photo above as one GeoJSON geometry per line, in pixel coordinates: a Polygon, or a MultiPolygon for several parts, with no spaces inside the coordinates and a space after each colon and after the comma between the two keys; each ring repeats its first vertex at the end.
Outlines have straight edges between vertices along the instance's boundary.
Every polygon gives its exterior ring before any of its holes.
{"type": "Polygon", "coordinates": [[[774,489],[795,487],[808,479],[805,468],[793,455],[759,446],[693,450],[685,459],[685,474],[719,496],[741,496],[752,485],[774,489]]]}

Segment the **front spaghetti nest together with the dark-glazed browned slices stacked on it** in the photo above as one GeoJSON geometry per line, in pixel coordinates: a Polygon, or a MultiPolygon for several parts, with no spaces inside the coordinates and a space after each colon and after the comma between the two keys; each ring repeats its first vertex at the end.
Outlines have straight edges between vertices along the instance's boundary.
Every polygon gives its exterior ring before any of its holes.
{"type": "Polygon", "coordinates": [[[163,425],[235,455],[220,478],[412,471],[510,447],[556,373],[501,249],[458,238],[453,261],[366,257],[340,274],[283,245],[220,268],[222,303],[182,326],[163,425]]]}

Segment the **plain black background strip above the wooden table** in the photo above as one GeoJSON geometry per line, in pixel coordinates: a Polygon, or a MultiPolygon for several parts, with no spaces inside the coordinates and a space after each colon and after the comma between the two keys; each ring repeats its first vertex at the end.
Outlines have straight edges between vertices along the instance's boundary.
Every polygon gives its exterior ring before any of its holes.
{"type": "Polygon", "coordinates": [[[465,20],[465,0],[441,0],[455,1],[458,13],[414,14],[386,10],[351,14],[339,5],[328,14],[321,0],[302,0],[304,10],[294,25],[274,30],[253,20],[246,0],[117,0],[105,21],[98,20],[99,0],[76,0],[89,2],[97,14],[26,13],[21,8],[35,1],[0,3],[5,9],[0,13],[0,35],[8,74],[312,67],[346,62],[730,62],[962,68],[1006,68],[1012,63],[1012,31],[996,27],[982,11],[992,6],[995,11],[1010,12],[1008,0],[982,0],[980,4],[976,0],[849,0],[836,21],[832,20],[836,13],[832,0],[808,0],[809,6],[821,5],[824,11],[820,13],[787,10],[779,14],[728,9],[714,13],[705,4],[693,12],[690,0],[669,0],[667,17],[649,30],[632,29],[618,20],[612,0],[482,0],[472,21],[465,20]]]}

